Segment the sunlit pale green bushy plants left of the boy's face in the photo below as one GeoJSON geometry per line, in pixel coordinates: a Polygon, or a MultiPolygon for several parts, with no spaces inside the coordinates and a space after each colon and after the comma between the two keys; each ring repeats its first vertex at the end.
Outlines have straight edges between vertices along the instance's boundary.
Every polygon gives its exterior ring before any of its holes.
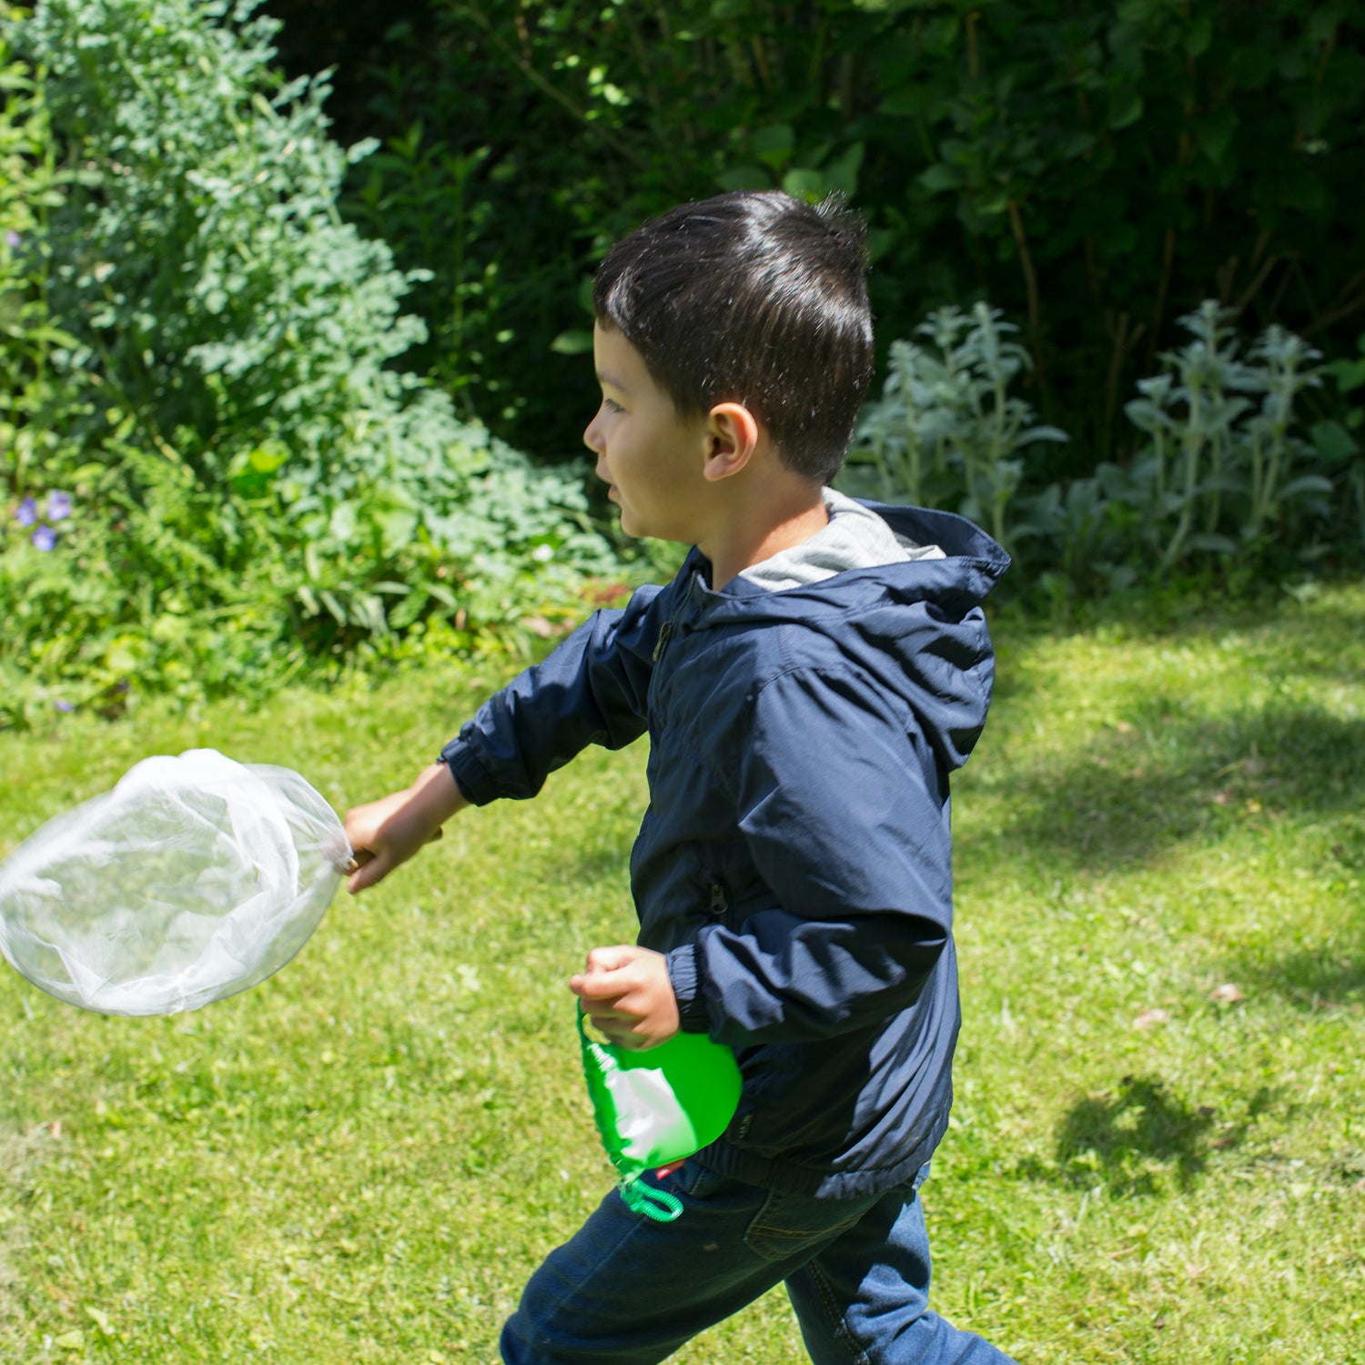
{"type": "Polygon", "coordinates": [[[63,191],[4,363],[41,351],[79,396],[10,419],[0,723],[506,642],[614,562],[577,471],[535,471],[394,366],[423,334],[411,277],[336,209],[367,149],[330,141],[325,81],[284,83],[251,8],[46,0],[0,27],[18,154],[63,191]],[[53,494],[71,515],[34,542],[53,494]]]}

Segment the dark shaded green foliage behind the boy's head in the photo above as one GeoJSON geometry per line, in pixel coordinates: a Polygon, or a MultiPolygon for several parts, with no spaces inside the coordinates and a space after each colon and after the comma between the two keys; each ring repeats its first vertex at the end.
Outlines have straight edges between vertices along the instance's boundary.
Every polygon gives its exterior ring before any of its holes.
{"type": "MultiPolygon", "coordinates": [[[[348,19],[273,0],[302,34],[348,19]]],[[[430,268],[420,355],[498,429],[573,449],[560,358],[603,244],[736,186],[844,188],[871,222],[883,348],[988,298],[1024,325],[1025,393],[1073,440],[1048,475],[1134,449],[1122,407],[1204,299],[1328,356],[1360,330],[1350,212],[1365,30],[1346,0],[437,0],[340,49],[347,212],[430,268]],[[566,321],[568,319],[568,321],[566,321]],[[566,336],[564,333],[568,333],[566,336]],[[558,348],[553,349],[556,339],[558,348]],[[541,382],[531,388],[524,375],[541,382]]],[[[581,325],[580,325],[581,326],[581,325]]]]}

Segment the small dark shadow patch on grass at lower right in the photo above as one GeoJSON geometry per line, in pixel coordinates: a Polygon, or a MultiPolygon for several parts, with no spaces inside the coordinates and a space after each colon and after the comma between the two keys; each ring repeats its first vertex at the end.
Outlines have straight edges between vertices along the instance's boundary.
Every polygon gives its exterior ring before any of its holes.
{"type": "Polygon", "coordinates": [[[1190,1106],[1153,1076],[1125,1076],[1118,1088],[1078,1099],[1057,1127],[1051,1162],[1029,1159],[1020,1174],[1073,1189],[1104,1185],[1119,1197],[1158,1194],[1168,1179],[1188,1190],[1212,1151],[1239,1147],[1274,1102],[1261,1088],[1245,1114],[1220,1122],[1208,1104],[1190,1106]]]}

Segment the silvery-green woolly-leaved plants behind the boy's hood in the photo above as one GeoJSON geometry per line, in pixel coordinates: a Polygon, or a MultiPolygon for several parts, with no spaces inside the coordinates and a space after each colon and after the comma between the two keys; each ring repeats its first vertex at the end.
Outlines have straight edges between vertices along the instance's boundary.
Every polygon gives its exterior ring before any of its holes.
{"type": "Polygon", "coordinates": [[[1342,501],[1334,494],[1358,479],[1360,464],[1332,452],[1358,452],[1345,427],[1317,423],[1312,440],[1301,431],[1299,400],[1323,382],[1320,355],[1272,325],[1244,358],[1231,322],[1213,300],[1181,318],[1190,340],[1163,354],[1162,373],[1125,405],[1147,438],[1130,461],[1046,480],[1022,452],[1066,437],[1035,426],[1029,404],[1007,393],[1028,369],[1014,329],[986,304],[971,317],[940,310],[919,329],[934,349],[893,344],[845,486],[983,521],[1052,595],[1208,565],[1233,580],[1269,558],[1301,566],[1321,553],[1320,530],[1342,501]]]}

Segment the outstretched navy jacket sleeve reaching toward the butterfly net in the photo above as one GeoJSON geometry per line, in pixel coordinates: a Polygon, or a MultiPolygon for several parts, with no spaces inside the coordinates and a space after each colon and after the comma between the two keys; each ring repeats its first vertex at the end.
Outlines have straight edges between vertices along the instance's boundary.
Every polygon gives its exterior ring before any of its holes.
{"type": "Polygon", "coordinates": [[[667,588],[639,588],[620,610],[597,612],[543,663],[479,708],[441,751],[464,797],[535,796],[588,744],[618,749],[646,729],[646,700],[667,588]]]}

